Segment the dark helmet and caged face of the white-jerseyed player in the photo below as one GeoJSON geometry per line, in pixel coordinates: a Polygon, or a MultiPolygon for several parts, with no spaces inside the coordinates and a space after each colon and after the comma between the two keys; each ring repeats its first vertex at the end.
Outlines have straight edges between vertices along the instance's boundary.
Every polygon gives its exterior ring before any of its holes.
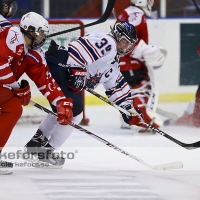
{"type": "Polygon", "coordinates": [[[135,42],[137,41],[137,35],[135,27],[132,24],[126,21],[121,21],[115,24],[111,32],[118,43],[118,47],[120,44],[125,43],[125,41],[128,44],[123,49],[117,48],[117,53],[119,55],[125,55],[134,49],[135,42]]]}

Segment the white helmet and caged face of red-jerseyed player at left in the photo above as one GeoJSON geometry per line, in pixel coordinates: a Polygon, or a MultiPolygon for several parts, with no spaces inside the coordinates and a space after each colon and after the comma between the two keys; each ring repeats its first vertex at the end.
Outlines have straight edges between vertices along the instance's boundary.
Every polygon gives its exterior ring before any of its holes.
{"type": "Polygon", "coordinates": [[[32,39],[32,49],[43,46],[49,34],[49,23],[44,17],[38,13],[29,12],[22,16],[19,26],[21,32],[32,39]]]}

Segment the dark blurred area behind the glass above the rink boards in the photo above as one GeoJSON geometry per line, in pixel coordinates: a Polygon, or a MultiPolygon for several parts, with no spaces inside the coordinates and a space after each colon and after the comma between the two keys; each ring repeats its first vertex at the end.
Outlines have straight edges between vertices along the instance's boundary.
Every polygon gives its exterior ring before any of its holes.
{"type": "MultiPolygon", "coordinates": [[[[34,11],[47,18],[99,18],[107,5],[107,0],[18,0],[16,18],[34,11]],[[61,9],[62,8],[62,9],[61,9]]],[[[191,0],[154,0],[154,10],[158,17],[187,18],[199,17],[191,0]]],[[[200,0],[196,0],[200,4],[200,0]]],[[[116,0],[117,13],[128,7],[130,0],[116,0]]]]}

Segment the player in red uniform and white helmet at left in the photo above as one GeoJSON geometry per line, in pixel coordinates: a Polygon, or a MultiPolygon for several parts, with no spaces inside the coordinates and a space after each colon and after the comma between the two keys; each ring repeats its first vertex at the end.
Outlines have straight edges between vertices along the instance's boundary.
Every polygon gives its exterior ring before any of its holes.
{"type": "Polygon", "coordinates": [[[58,123],[68,124],[72,120],[71,99],[52,78],[41,46],[49,33],[48,21],[41,15],[25,14],[20,27],[14,27],[1,16],[0,32],[0,152],[22,114],[22,106],[30,102],[28,81],[18,80],[26,73],[40,92],[56,106],[58,123]]]}

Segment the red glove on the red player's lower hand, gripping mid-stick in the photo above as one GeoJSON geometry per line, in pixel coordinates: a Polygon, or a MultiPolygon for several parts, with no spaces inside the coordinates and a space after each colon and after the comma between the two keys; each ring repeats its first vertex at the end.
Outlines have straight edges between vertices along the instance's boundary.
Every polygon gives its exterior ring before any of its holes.
{"type": "Polygon", "coordinates": [[[56,103],[58,118],[57,121],[61,125],[68,125],[73,118],[73,103],[71,98],[60,99],[56,103]]]}

